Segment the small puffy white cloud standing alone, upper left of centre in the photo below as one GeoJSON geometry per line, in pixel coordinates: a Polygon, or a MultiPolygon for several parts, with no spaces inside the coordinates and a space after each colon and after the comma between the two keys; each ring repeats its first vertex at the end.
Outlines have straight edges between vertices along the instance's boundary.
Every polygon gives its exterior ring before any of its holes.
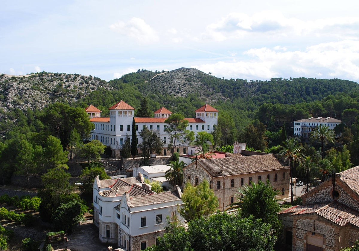
{"type": "Polygon", "coordinates": [[[111,24],[110,28],[122,35],[136,40],[140,44],[159,41],[157,32],[141,18],[134,17],[127,23],[120,21],[111,24]]]}

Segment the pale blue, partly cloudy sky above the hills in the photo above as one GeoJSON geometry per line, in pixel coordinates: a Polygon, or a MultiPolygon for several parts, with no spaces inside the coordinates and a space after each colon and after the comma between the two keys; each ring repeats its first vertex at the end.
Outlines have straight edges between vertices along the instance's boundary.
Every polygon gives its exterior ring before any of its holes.
{"type": "Polygon", "coordinates": [[[225,79],[359,82],[357,0],[4,1],[0,73],[119,78],[197,68],[225,79]]]}

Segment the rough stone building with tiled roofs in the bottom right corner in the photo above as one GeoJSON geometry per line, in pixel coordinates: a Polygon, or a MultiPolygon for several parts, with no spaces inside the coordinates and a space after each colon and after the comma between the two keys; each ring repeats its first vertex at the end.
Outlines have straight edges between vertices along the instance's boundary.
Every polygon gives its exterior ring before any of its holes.
{"type": "Polygon", "coordinates": [[[359,166],[333,174],[279,212],[289,250],[337,251],[359,239],[359,166]]]}

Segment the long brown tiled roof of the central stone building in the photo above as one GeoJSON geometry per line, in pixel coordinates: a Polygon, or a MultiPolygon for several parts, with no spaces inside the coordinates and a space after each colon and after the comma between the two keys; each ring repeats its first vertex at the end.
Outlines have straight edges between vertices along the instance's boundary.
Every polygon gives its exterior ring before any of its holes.
{"type": "MultiPolygon", "coordinates": [[[[192,165],[196,165],[196,161],[186,166],[185,169],[192,165]]],[[[197,165],[202,167],[212,177],[289,169],[287,166],[282,166],[272,154],[232,158],[208,158],[197,160],[197,165]]]]}

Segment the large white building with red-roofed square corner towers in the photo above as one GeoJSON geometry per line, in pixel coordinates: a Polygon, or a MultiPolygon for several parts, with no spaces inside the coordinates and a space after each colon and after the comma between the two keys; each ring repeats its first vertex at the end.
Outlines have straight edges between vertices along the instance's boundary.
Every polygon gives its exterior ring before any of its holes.
{"type": "MultiPolygon", "coordinates": [[[[104,145],[111,146],[113,156],[119,156],[121,155],[126,135],[128,134],[130,138],[132,137],[132,119],[135,108],[121,100],[111,106],[109,110],[109,118],[101,118],[101,113],[99,117],[90,117],[90,121],[94,123],[95,126],[90,139],[97,139],[104,145]]],[[[91,112],[88,113],[92,114],[91,112]]],[[[188,120],[186,129],[194,131],[196,139],[198,132],[213,132],[214,128],[217,126],[218,110],[206,104],[197,109],[195,113],[195,118],[186,118],[188,120]]],[[[164,123],[164,120],[170,117],[171,114],[172,112],[162,107],[154,113],[154,118],[135,118],[137,144],[142,143],[139,132],[144,126],[147,126],[148,129],[157,130],[159,132],[159,136],[164,142],[162,154],[167,155],[167,153],[169,153],[167,152],[167,145],[170,143],[170,138],[169,135],[164,132],[164,129],[167,126],[167,124],[164,123]]],[[[176,147],[174,151],[180,154],[186,154],[188,152],[187,147],[188,145],[183,144],[176,147]]]]}

